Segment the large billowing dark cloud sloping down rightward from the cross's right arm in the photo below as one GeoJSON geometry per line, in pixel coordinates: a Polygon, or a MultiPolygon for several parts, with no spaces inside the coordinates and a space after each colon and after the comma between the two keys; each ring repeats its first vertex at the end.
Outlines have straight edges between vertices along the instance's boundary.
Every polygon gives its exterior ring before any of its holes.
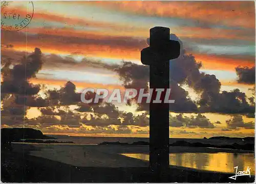
{"type": "MultiPolygon", "coordinates": [[[[180,41],[178,38],[176,39],[180,41]]],[[[180,43],[182,46],[183,43],[181,41],[180,43]]],[[[254,104],[253,106],[248,104],[245,93],[240,92],[238,89],[231,92],[220,92],[220,81],[215,75],[200,72],[199,69],[201,67],[202,64],[198,63],[193,55],[187,55],[184,49],[182,49],[179,58],[170,62],[170,80],[178,84],[187,84],[200,94],[200,100],[196,102],[199,107],[199,112],[223,114],[254,112],[254,104]]],[[[176,103],[178,103],[178,101],[175,101],[174,104],[176,103]]],[[[170,107],[172,107],[172,105],[173,104],[170,104],[170,107]]],[[[190,109],[196,112],[195,106],[191,105],[190,109]]]]}

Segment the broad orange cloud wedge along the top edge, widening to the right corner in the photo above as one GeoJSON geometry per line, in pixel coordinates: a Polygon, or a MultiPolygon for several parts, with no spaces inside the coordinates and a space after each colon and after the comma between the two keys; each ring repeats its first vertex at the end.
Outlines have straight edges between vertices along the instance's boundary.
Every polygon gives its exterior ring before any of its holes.
{"type": "MultiPolygon", "coordinates": [[[[254,2],[87,2],[138,15],[184,18],[201,24],[254,29],[254,2]]],[[[81,3],[86,5],[86,3],[81,3]]]]}

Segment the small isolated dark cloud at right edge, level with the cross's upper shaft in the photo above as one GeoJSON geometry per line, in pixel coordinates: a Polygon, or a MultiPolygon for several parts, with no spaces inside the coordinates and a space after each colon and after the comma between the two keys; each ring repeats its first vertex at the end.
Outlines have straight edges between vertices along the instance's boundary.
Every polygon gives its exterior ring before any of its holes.
{"type": "Polygon", "coordinates": [[[254,67],[237,67],[238,83],[255,84],[255,66],[254,67]]]}

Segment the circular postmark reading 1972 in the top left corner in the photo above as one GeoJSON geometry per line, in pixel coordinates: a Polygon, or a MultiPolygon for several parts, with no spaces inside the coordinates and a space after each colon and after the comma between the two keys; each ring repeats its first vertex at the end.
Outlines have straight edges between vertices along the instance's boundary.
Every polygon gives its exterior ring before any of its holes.
{"type": "Polygon", "coordinates": [[[1,2],[1,29],[19,31],[28,26],[34,15],[32,1],[1,2]]]}

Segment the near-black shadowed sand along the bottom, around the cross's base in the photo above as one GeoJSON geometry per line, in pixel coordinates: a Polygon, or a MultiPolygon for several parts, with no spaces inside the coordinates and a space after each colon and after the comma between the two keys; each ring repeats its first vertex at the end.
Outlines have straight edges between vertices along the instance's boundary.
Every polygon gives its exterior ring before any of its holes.
{"type": "MultiPolygon", "coordinates": [[[[147,167],[77,167],[29,155],[29,148],[32,147],[32,145],[27,146],[26,149],[22,147],[23,152],[1,152],[2,182],[159,182],[147,167]]],[[[136,160],[136,162],[147,165],[144,161],[136,160]]],[[[237,180],[228,178],[232,175],[171,167],[165,182],[254,181],[254,176],[240,176],[237,180]]]]}

